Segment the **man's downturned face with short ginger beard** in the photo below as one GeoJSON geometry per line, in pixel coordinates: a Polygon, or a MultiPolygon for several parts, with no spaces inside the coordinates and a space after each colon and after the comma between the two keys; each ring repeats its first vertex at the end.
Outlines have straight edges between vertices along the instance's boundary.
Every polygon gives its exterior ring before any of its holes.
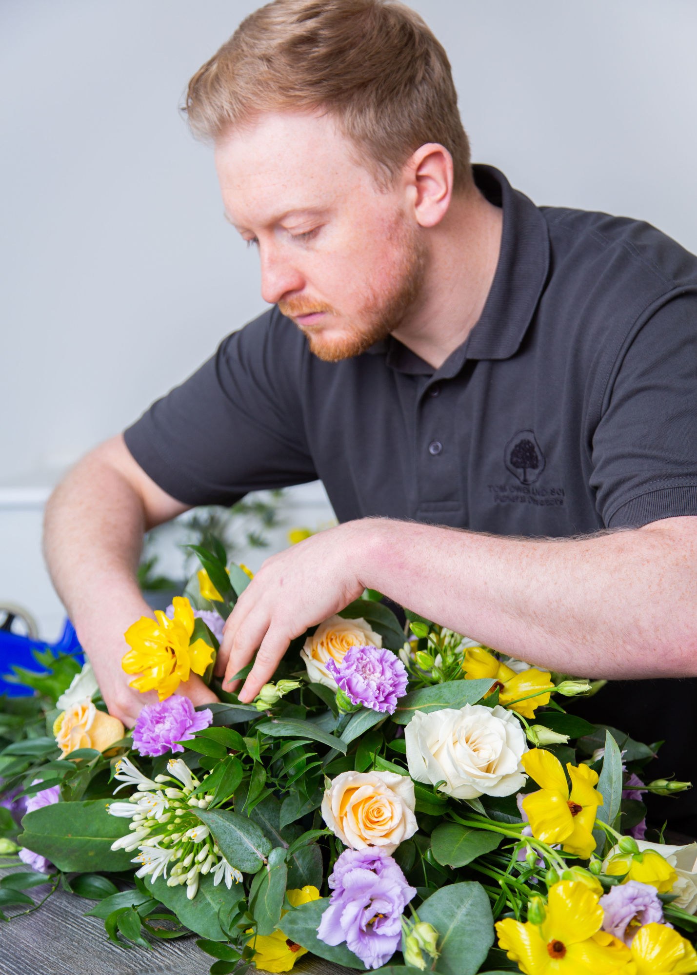
{"type": "Polygon", "coordinates": [[[259,248],[264,299],[329,362],[402,324],[426,271],[404,187],[383,191],[356,151],[330,118],[296,112],[216,144],[225,214],[259,248]]]}

